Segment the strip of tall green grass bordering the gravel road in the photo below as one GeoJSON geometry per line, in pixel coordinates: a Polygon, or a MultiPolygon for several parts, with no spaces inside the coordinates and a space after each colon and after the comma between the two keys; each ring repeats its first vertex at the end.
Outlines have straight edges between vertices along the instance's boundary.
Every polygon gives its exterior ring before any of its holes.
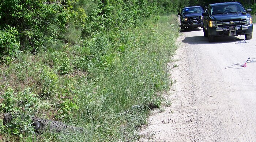
{"type": "Polygon", "coordinates": [[[99,76],[90,83],[97,85],[87,87],[88,92],[79,96],[78,118],[81,119],[78,123],[83,123],[91,132],[86,136],[65,135],[63,141],[78,138],[135,141],[139,138],[137,130],[147,119],[148,108],[144,106],[160,105],[161,91],[169,87],[165,69],[176,49],[176,16],[158,18],[154,19],[157,22],[146,21],[138,28],[123,31],[128,42],[125,51],[115,55],[114,70],[99,76]],[[93,101],[88,102],[89,96],[93,101]],[[133,110],[136,105],[141,107],[133,110]]]}

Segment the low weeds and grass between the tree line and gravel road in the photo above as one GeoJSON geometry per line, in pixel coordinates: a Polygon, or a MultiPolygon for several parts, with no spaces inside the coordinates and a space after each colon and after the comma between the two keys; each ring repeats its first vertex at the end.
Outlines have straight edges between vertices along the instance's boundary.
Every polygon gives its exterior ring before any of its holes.
{"type": "Polygon", "coordinates": [[[139,138],[137,129],[147,123],[148,110],[159,107],[161,91],[169,87],[165,69],[175,52],[177,36],[176,16],[157,16],[136,28],[98,33],[82,44],[52,43],[60,52],[22,54],[10,66],[1,66],[0,91],[7,98],[1,102],[2,111],[13,108],[86,128],[83,133],[34,137],[29,122],[16,120],[29,128],[1,125],[1,137],[22,137],[20,141],[135,141],[139,138]],[[89,52],[97,58],[84,58],[89,52]]]}

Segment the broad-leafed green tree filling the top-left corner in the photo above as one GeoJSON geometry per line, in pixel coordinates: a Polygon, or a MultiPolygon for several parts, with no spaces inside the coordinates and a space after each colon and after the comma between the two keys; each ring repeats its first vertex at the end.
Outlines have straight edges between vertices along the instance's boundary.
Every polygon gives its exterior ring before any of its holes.
{"type": "Polygon", "coordinates": [[[15,27],[19,31],[16,41],[20,50],[37,53],[44,36],[60,39],[66,25],[74,15],[76,1],[26,1],[10,0],[0,3],[0,28],[15,27]],[[64,6],[65,5],[65,6],[64,6]]]}

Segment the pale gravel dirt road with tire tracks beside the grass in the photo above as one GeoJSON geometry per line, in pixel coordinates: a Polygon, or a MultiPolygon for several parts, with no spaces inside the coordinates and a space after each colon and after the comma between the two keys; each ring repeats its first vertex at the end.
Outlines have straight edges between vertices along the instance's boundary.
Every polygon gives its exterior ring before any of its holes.
{"type": "Polygon", "coordinates": [[[256,62],[225,69],[256,58],[256,30],[244,39],[209,43],[202,28],[181,33],[177,61],[169,64],[176,84],[165,94],[172,104],[152,112],[140,141],[255,142],[256,62]]]}

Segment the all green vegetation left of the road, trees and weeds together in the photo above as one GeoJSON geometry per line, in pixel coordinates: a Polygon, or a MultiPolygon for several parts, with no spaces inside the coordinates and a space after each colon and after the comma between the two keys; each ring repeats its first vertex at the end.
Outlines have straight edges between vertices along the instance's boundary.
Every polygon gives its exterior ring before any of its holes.
{"type": "Polygon", "coordinates": [[[0,3],[1,141],[135,141],[169,87],[178,3],[0,3]],[[173,8],[172,8],[173,7],[173,8]],[[31,116],[83,127],[35,135],[31,116]]]}

